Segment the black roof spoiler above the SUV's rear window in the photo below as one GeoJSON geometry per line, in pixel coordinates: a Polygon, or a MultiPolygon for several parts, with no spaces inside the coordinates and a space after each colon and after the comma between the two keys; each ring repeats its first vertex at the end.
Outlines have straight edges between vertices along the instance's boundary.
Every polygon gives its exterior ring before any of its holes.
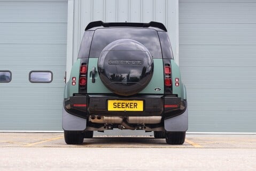
{"type": "Polygon", "coordinates": [[[100,27],[100,26],[103,26],[103,27],[156,27],[167,32],[166,27],[163,24],[161,24],[161,22],[155,22],[155,21],[151,21],[149,23],[93,21],[87,25],[86,30],[89,30],[90,28],[94,28],[94,27],[100,27]]]}

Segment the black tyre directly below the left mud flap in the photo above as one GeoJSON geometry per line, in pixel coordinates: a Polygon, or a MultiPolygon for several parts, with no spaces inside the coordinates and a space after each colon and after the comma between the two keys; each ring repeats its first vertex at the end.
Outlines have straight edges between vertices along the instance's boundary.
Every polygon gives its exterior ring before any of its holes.
{"type": "Polygon", "coordinates": [[[64,138],[67,144],[82,144],[83,132],[64,130],[64,138]]]}

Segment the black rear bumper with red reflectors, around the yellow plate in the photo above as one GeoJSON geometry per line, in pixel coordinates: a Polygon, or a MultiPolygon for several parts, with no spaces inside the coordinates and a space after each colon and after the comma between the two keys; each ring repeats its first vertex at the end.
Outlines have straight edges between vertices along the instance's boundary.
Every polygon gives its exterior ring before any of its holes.
{"type": "Polygon", "coordinates": [[[164,119],[180,115],[187,108],[185,100],[176,96],[140,95],[120,97],[115,95],[76,95],[64,99],[65,110],[73,115],[87,118],[89,115],[108,116],[164,116],[164,119]],[[140,100],[143,111],[108,111],[108,100],[140,100]]]}

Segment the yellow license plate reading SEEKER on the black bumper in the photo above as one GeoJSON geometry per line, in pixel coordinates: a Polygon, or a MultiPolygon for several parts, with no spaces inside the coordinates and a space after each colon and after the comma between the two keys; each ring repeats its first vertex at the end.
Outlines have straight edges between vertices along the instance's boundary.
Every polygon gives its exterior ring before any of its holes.
{"type": "Polygon", "coordinates": [[[108,100],[108,111],[143,111],[143,100],[108,100]]]}

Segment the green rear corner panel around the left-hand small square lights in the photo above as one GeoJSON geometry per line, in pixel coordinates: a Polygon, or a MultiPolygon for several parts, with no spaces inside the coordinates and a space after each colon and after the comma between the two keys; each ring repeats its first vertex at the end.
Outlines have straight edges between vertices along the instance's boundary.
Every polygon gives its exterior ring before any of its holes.
{"type": "Polygon", "coordinates": [[[74,93],[78,93],[80,61],[81,59],[77,59],[72,66],[69,81],[66,83],[66,86],[65,86],[64,98],[72,97],[74,93]],[[72,77],[76,77],[75,86],[72,86],[72,77]]]}

